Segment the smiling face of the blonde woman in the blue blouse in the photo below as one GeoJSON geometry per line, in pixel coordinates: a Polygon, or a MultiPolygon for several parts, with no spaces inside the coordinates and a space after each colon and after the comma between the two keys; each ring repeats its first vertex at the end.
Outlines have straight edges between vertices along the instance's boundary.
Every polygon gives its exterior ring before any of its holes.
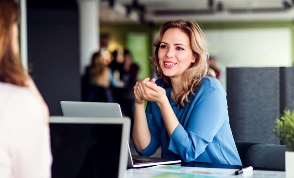
{"type": "Polygon", "coordinates": [[[195,62],[188,35],[176,28],[165,31],[161,39],[158,59],[165,76],[182,77],[183,72],[195,62]]]}

